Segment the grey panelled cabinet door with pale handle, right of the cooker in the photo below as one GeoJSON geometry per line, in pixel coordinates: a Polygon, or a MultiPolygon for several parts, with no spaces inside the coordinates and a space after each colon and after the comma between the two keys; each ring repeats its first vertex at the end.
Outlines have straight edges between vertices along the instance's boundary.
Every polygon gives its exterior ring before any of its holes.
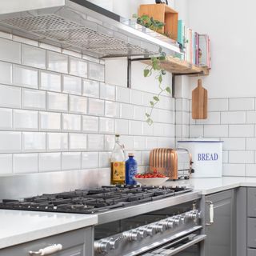
{"type": "MultiPolygon", "coordinates": [[[[206,226],[206,256],[234,256],[234,190],[206,196],[214,203],[214,223],[206,226]]],[[[206,223],[209,205],[206,203],[206,223]]]]}

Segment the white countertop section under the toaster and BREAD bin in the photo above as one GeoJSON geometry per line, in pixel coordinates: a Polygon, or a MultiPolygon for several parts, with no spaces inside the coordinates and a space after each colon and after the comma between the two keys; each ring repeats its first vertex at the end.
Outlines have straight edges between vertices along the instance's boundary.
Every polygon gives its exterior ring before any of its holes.
{"type": "Polygon", "coordinates": [[[238,186],[256,186],[256,178],[222,177],[222,178],[190,178],[176,182],[166,182],[165,186],[189,186],[200,194],[212,194],[222,190],[234,189],[238,186]]]}

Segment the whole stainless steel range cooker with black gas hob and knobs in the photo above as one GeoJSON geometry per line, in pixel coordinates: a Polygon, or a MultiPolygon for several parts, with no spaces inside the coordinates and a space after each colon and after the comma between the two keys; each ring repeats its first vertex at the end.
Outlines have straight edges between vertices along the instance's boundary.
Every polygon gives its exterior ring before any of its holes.
{"type": "Polygon", "coordinates": [[[3,199],[0,209],[98,214],[95,256],[199,255],[200,196],[186,187],[102,186],[3,199]]]}

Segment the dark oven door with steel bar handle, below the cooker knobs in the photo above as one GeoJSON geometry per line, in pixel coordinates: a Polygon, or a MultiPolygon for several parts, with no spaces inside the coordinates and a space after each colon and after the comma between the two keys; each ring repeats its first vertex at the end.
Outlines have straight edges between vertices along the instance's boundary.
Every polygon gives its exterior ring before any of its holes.
{"type": "Polygon", "coordinates": [[[206,234],[189,234],[175,241],[168,242],[154,250],[150,250],[141,256],[198,256],[200,244],[206,239],[206,234]]]}

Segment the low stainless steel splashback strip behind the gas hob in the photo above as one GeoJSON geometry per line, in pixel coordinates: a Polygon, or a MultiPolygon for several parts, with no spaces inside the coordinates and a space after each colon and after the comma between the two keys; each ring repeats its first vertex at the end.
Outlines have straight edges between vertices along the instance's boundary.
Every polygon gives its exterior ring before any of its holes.
{"type": "Polygon", "coordinates": [[[0,200],[109,185],[110,169],[71,170],[0,177],[0,200]]]}

